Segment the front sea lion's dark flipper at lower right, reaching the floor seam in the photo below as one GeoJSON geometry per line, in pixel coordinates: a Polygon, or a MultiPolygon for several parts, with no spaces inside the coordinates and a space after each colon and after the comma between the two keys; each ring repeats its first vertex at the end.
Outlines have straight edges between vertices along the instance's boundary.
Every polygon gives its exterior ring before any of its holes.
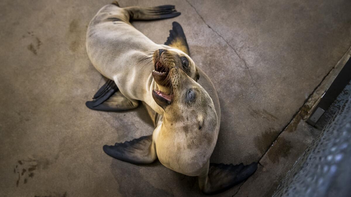
{"type": "Polygon", "coordinates": [[[199,176],[200,189],[207,195],[222,192],[249,178],[257,169],[257,163],[244,165],[211,163],[208,175],[199,176]]]}

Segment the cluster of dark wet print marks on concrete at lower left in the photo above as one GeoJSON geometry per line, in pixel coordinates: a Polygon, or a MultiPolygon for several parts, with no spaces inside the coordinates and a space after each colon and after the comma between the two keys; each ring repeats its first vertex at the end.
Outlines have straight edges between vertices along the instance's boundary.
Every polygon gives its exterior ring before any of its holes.
{"type": "Polygon", "coordinates": [[[13,172],[18,174],[18,179],[16,181],[16,186],[23,181],[23,184],[28,182],[28,179],[34,177],[34,171],[37,169],[38,163],[35,159],[18,160],[15,165],[13,172]]]}

